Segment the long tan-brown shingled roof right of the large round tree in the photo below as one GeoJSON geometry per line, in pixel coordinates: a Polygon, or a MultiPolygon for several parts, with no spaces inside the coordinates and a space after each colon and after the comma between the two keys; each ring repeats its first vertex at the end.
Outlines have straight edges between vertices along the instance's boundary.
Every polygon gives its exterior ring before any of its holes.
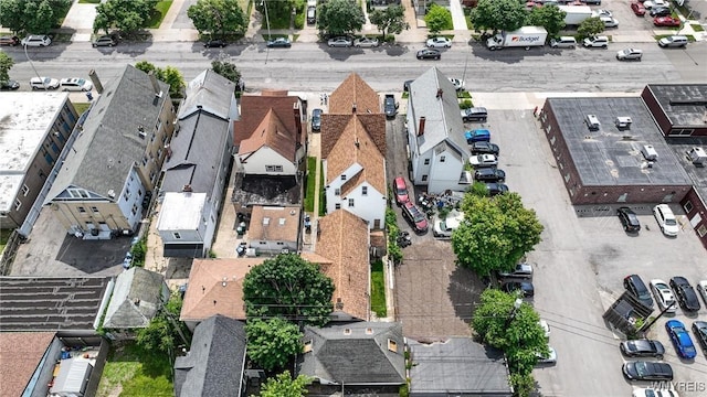
{"type": "MultiPolygon", "coordinates": [[[[319,218],[316,254],[331,260],[321,264],[321,271],[334,281],[331,296],[335,311],[369,320],[370,266],[368,260],[368,225],[345,210],[319,218]]],[[[316,260],[308,259],[313,262],[316,260]]]]}

